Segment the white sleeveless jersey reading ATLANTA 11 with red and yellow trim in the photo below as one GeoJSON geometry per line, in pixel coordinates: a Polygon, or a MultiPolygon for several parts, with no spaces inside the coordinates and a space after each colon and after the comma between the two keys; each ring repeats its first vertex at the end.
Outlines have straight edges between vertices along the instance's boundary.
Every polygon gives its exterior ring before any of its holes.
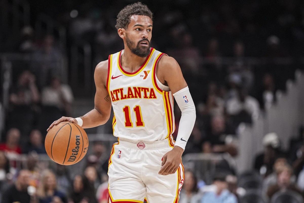
{"type": "Polygon", "coordinates": [[[114,110],[113,135],[138,141],[168,138],[175,130],[173,95],[157,86],[155,74],[164,53],[151,48],[143,65],[129,73],[120,63],[123,51],[109,56],[107,90],[114,110]]]}

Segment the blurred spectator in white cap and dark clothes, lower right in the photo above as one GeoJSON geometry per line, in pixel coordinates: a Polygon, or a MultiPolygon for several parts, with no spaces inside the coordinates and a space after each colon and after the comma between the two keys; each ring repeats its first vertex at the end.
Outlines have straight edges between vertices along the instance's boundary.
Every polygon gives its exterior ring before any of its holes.
{"type": "Polygon", "coordinates": [[[254,169],[262,176],[267,177],[273,172],[275,160],[282,157],[280,151],[280,140],[275,132],[266,134],[263,138],[262,144],[264,152],[257,155],[254,161],[254,169]]]}

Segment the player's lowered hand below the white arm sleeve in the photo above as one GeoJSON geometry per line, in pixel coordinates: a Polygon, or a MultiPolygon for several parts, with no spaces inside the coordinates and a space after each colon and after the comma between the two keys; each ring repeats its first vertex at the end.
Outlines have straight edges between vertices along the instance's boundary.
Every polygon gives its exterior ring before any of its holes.
{"type": "Polygon", "coordinates": [[[174,146],[173,149],[163,156],[161,163],[161,170],[158,172],[160,175],[174,174],[181,163],[181,155],[184,150],[179,146],[174,146]]]}

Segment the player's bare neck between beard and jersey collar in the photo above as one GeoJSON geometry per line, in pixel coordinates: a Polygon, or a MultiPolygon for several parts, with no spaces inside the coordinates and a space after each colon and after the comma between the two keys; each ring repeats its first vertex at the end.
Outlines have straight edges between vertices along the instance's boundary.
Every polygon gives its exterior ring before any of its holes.
{"type": "Polygon", "coordinates": [[[135,55],[130,49],[125,49],[121,56],[120,63],[125,71],[133,73],[143,65],[146,58],[147,57],[139,57],[135,55]]]}

